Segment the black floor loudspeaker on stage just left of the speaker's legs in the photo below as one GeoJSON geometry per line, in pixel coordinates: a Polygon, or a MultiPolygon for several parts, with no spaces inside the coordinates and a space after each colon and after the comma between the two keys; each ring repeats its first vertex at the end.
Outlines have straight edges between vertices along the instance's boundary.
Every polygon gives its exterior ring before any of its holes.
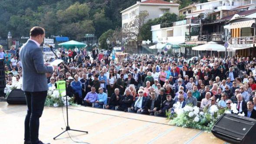
{"type": "Polygon", "coordinates": [[[13,89],[7,97],[8,104],[26,105],[26,97],[21,89],[13,89]]]}

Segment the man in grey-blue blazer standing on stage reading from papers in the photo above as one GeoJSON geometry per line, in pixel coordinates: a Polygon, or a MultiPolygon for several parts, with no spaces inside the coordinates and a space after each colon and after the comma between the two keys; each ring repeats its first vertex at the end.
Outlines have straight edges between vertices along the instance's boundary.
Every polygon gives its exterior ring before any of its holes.
{"type": "Polygon", "coordinates": [[[23,70],[22,90],[25,92],[28,107],[24,144],[43,144],[38,139],[38,131],[39,118],[43,113],[48,90],[46,75],[53,73],[57,67],[44,64],[43,52],[39,48],[44,37],[43,28],[33,27],[30,30],[30,39],[20,49],[23,70]]]}

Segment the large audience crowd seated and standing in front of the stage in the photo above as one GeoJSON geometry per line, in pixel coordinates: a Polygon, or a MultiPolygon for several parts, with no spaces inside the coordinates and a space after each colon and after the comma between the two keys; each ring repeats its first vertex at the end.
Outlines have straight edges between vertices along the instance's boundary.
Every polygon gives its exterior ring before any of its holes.
{"type": "MultiPolygon", "coordinates": [[[[163,53],[97,58],[85,49],[58,49],[64,62],[49,77],[48,86],[66,81],[66,95],[80,105],[166,116],[179,101],[209,111],[212,105],[256,118],[256,58],[172,57],[163,53]],[[92,57],[92,58],[91,58],[92,57]]],[[[19,49],[3,52],[7,84],[13,76],[22,79],[19,49]]],[[[53,60],[53,59],[51,59],[53,60]]],[[[232,112],[232,111],[231,111],[232,112]]]]}

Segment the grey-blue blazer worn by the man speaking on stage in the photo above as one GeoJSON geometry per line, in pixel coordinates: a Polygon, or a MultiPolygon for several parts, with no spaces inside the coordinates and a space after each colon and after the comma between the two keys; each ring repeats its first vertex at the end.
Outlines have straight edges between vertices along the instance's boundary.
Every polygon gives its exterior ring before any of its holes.
{"type": "Polygon", "coordinates": [[[42,92],[48,90],[46,72],[53,73],[52,66],[45,66],[43,52],[35,42],[28,40],[20,49],[22,62],[23,85],[26,92],[42,92]]]}

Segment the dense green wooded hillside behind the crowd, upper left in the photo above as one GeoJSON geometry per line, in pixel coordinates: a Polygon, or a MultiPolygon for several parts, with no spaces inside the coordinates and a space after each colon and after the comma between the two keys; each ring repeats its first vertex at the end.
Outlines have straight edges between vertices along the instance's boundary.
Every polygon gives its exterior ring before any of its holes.
{"type": "Polygon", "coordinates": [[[98,38],[121,27],[121,10],[135,0],[0,0],[0,36],[29,36],[33,26],[43,26],[46,37],[69,36],[81,40],[85,33],[98,38]]]}

